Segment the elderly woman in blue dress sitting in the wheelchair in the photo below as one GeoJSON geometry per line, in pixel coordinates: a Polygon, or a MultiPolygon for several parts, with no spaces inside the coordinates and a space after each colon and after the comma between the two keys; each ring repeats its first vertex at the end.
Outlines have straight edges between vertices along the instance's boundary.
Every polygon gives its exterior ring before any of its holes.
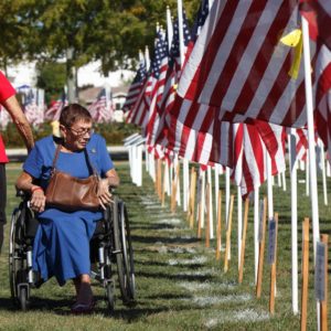
{"type": "Polygon", "coordinates": [[[65,212],[47,206],[45,190],[57,148],[56,170],[84,179],[92,174],[90,162],[103,178],[98,188],[100,209],[110,202],[109,186],[117,186],[119,179],[105,139],[93,134],[88,110],[77,104],[63,108],[60,130],[61,139],[49,136],[35,143],[23,164],[17,188],[31,193],[31,207],[38,212],[40,221],[33,245],[33,269],[40,273],[44,281],[55,276],[60,286],[73,279],[77,299],[72,311],[89,312],[94,302],[89,277],[89,239],[96,222],[103,216],[102,210],[65,212]],[[34,184],[35,180],[39,180],[39,185],[34,184]]]}

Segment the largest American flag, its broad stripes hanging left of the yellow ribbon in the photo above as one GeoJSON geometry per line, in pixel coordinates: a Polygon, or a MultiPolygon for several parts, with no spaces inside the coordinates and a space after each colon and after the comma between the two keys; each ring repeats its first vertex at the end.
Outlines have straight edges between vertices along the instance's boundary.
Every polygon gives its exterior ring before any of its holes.
{"type": "Polygon", "coordinates": [[[295,49],[285,41],[298,28],[295,1],[215,1],[179,96],[217,107],[220,119],[302,127],[305,94],[297,90],[303,86],[303,65],[290,73],[295,49]]]}

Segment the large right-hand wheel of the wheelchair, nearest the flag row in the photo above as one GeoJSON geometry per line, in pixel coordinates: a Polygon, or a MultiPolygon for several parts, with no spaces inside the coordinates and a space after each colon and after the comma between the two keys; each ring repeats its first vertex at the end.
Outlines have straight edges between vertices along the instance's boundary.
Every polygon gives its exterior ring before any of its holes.
{"type": "Polygon", "coordinates": [[[128,260],[125,258],[127,256],[126,245],[121,239],[121,202],[115,196],[114,207],[113,207],[113,229],[114,229],[114,245],[116,252],[116,263],[117,263],[117,274],[119,281],[119,289],[121,293],[121,299],[125,305],[132,301],[134,293],[131,292],[130,284],[130,273],[128,260]]]}

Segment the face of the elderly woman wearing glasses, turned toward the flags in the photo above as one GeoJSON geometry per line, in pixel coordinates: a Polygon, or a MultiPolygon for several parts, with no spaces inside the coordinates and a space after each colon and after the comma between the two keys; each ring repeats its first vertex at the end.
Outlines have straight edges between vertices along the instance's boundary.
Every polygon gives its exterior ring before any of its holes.
{"type": "Polygon", "coordinates": [[[71,150],[84,149],[92,134],[92,121],[77,120],[71,127],[63,127],[65,146],[71,150]]]}

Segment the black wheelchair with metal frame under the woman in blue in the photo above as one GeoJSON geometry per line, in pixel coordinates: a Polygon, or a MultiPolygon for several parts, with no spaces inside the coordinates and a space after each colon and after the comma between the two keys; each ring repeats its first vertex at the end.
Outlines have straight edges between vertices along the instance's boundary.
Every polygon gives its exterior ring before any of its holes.
{"type": "MultiPolygon", "coordinates": [[[[9,278],[13,303],[25,311],[31,289],[39,288],[43,281],[39,273],[32,270],[32,247],[39,222],[29,206],[29,196],[23,192],[18,192],[18,196],[22,201],[11,217],[9,278]]],[[[136,285],[129,220],[126,204],[116,195],[97,222],[89,246],[90,276],[105,288],[109,310],[115,309],[116,274],[124,305],[132,305],[136,285]]]]}

